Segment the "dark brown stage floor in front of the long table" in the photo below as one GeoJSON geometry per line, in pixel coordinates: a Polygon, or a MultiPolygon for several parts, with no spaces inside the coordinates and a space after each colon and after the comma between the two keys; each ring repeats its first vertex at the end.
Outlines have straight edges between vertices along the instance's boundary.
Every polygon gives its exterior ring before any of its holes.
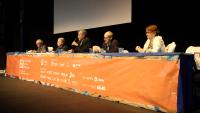
{"type": "Polygon", "coordinates": [[[156,113],[0,76],[0,113],[156,113]]]}

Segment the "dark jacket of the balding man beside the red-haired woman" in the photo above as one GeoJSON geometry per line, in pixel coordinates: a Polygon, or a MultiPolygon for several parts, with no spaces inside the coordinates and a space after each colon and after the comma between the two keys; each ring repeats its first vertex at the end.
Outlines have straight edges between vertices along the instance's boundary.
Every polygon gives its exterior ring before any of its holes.
{"type": "Polygon", "coordinates": [[[109,53],[118,52],[119,42],[114,39],[109,44],[103,43],[102,48],[109,53]]]}

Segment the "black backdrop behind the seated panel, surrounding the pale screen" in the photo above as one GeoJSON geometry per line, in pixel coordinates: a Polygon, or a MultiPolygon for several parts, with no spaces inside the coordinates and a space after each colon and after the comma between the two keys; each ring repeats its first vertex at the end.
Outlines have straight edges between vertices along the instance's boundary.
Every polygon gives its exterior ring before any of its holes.
{"type": "MultiPolygon", "coordinates": [[[[175,41],[175,51],[185,52],[200,45],[199,5],[192,0],[132,0],[132,23],[88,29],[88,37],[101,45],[104,32],[111,30],[122,47],[135,52],[146,41],[145,27],[157,24],[165,44],[175,41]]],[[[34,49],[37,38],[56,47],[57,38],[64,36],[70,46],[77,31],[53,35],[53,10],[53,0],[0,0],[0,69],[6,52],[34,49]]]]}

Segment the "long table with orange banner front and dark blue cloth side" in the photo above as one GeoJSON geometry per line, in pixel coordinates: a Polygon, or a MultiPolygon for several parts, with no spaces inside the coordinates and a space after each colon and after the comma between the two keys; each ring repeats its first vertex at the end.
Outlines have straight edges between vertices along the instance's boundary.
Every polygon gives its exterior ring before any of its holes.
{"type": "Polygon", "coordinates": [[[7,76],[163,112],[192,109],[194,57],[181,53],[7,53],[7,76]]]}

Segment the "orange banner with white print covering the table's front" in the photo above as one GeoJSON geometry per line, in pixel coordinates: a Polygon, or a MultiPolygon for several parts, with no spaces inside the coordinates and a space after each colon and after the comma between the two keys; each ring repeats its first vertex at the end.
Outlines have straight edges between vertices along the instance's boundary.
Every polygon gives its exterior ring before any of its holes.
{"type": "Polygon", "coordinates": [[[177,112],[178,59],[99,56],[7,55],[6,72],[89,95],[177,112]]]}

